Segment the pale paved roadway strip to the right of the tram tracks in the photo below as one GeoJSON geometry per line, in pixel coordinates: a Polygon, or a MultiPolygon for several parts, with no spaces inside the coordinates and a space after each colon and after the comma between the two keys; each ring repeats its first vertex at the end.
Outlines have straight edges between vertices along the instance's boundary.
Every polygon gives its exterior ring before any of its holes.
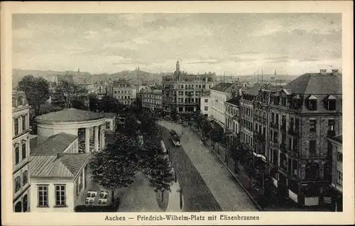
{"type": "MultiPolygon", "coordinates": [[[[188,127],[171,122],[161,121],[159,124],[183,134],[182,147],[178,151],[184,151],[187,154],[222,210],[258,211],[253,200],[231,177],[217,156],[212,154],[207,146],[204,146],[195,132],[188,127]]],[[[165,139],[168,137],[168,134],[163,133],[163,135],[165,139]]]]}

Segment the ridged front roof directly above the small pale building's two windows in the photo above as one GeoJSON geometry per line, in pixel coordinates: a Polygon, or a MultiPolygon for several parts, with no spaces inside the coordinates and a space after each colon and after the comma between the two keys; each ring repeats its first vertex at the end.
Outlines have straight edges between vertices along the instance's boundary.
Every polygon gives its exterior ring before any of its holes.
{"type": "Polygon", "coordinates": [[[30,156],[31,177],[75,178],[89,156],[89,153],[30,156]]]}

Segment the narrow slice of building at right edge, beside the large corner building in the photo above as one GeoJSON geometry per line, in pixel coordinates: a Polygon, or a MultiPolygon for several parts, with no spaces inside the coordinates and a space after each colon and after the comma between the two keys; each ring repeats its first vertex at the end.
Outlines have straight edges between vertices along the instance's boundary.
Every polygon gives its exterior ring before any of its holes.
{"type": "Polygon", "coordinates": [[[328,138],[328,154],[332,156],[332,200],[334,210],[343,210],[343,138],[342,135],[328,138]]]}

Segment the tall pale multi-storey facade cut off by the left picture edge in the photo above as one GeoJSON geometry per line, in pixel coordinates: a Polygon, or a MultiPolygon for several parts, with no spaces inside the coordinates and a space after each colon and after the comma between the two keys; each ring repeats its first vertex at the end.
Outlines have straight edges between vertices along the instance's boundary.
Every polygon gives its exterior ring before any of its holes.
{"type": "Polygon", "coordinates": [[[30,211],[29,105],[21,91],[12,92],[13,212],[30,211]]]}

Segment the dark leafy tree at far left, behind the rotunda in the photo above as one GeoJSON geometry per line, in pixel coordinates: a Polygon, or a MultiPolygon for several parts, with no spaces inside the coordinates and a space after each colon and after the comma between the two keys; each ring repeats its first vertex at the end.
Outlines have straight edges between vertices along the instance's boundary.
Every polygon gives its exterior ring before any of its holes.
{"type": "Polygon", "coordinates": [[[26,75],[18,82],[18,90],[25,92],[28,104],[35,109],[35,115],[40,112],[40,105],[50,97],[49,82],[43,77],[26,75]]]}

